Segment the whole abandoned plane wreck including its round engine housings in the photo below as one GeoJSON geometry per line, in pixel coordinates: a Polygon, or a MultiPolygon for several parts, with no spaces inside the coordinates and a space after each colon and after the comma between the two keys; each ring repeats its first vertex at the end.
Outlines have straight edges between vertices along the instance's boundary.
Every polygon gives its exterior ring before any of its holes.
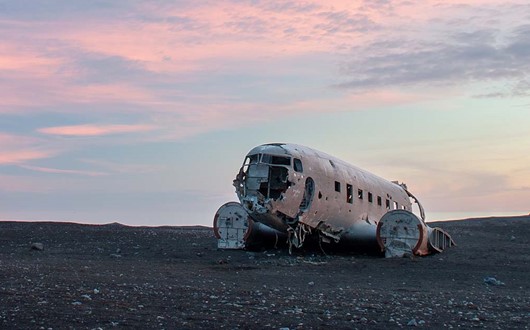
{"type": "Polygon", "coordinates": [[[395,257],[455,245],[445,231],[425,223],[423,207],[405,184],[308,147],[253,148],[233,185],[239,202],[224,204],[214,217],[221,249],[286,243],[291,250],[316,238],[319,244],[395,257]]]}

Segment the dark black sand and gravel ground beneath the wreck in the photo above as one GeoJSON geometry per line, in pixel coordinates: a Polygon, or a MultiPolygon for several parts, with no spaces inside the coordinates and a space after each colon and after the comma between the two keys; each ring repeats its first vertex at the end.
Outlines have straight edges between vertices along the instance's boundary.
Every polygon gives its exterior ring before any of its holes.
{"type": "Polygon", "coordinates": [[[0,328],[528,329],[530,217],[439,225],[457,247],[384,259],[220,251],[201,227],[0,222],[0,328]]]}

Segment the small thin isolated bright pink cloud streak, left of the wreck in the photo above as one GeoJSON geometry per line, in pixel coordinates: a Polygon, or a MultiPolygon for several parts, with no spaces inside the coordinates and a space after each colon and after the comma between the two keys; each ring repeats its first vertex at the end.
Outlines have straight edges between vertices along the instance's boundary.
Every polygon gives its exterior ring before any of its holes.
{"type": "Polygon", "coordinates": [[[139,133],[155,129],[152,125],[72,125],[40,128],[37,131],[63,136],[102,136],[110,134],[139,133]]]}

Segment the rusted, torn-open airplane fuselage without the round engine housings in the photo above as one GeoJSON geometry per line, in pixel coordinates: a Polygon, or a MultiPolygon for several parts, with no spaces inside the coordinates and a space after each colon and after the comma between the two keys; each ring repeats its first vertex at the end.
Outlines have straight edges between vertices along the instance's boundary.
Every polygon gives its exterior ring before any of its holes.
{"type": "Polygon", "coordinates": [[[295,144],[253,148],[234,186],[255,221],[280,232],[303,226],[335,241],[347,235],[375,242],[384,214],[394,209],[412,211],[403,186],[295,144]]]}

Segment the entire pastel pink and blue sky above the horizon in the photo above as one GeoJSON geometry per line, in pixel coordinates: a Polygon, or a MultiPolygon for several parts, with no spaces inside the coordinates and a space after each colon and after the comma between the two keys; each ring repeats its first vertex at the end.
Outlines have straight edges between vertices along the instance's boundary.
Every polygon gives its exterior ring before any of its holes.
{"type": "Polygon", "coordinates": [[[0,0],[0,219],[211,225],[267,142],[527,214],[530,3],[0,0]]]}

